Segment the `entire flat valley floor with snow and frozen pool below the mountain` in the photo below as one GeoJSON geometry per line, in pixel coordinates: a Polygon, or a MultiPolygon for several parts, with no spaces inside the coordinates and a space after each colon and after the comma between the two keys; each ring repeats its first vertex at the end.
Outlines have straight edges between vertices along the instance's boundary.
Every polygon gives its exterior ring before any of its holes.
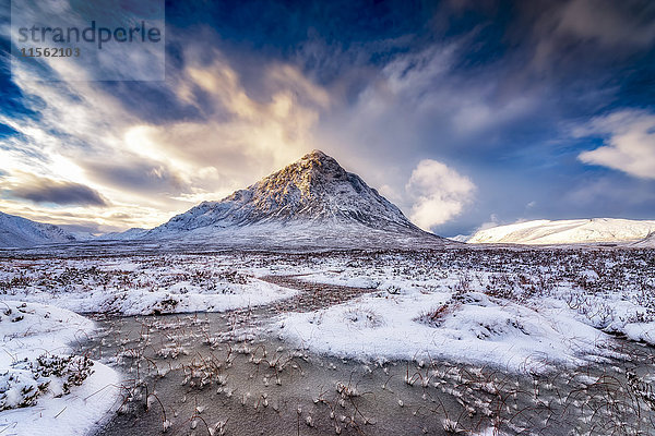
{"type": "Polygon", "coordinates": [[[1,435],[655,431],[655,251],[5,253],[0,308],[1,435]]]}

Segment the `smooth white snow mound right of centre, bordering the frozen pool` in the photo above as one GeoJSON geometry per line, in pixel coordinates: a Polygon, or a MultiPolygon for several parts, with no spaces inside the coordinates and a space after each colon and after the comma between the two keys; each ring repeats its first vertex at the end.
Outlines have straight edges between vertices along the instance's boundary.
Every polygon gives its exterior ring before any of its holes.
{"type": "Polygon", "coordinates": [[[367,295],[320,311],[289,314],[281,334],[322,353],[388,361],[432,359],[539,373],[608,354],[609,337],[565,312],[541,313],[480,292],[453,296],[419,290],[367,295]]]}

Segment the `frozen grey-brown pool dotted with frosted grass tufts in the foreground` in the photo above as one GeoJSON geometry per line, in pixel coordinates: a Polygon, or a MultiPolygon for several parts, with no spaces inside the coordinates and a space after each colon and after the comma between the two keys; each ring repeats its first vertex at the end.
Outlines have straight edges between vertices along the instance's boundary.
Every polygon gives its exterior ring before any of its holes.
{"type": "Polygon", "coordinates": [[[453,362],[361,363],[272,337],[270,308],[96,317],[85,348],[124,379],[97,435],[653,434],[655,353],[516,375],[453,362]],[[501,433],[495,433],[501,432],[501,433]]]}

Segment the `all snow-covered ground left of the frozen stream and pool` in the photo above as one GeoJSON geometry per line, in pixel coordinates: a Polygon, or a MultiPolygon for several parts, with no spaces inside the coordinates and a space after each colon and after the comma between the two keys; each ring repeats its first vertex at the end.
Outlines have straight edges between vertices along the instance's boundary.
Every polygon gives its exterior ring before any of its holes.
{"type": "Polygon", "coordinates": [[[61,436],[84,435],[117,405],[118,373],[71,358],[70,344],[94,331],[94,323],[76,313],[223,312],[296,293],[237,271],[235,258],[223,261],[134,256],[0,263],[0,434],[37,435],[48,428],[61,436]]]}

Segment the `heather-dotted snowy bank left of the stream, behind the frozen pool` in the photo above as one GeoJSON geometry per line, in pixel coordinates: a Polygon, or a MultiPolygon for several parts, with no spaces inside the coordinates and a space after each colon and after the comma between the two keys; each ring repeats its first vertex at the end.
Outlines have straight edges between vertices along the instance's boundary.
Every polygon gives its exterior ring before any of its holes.
{"type": "Polygon", "coordinates": [[[16,262],[0,270],[1,299],[53,304],[76,313],[147,315],[257,306],[296,291],[237,272],[216,258],[16,262]]]}

